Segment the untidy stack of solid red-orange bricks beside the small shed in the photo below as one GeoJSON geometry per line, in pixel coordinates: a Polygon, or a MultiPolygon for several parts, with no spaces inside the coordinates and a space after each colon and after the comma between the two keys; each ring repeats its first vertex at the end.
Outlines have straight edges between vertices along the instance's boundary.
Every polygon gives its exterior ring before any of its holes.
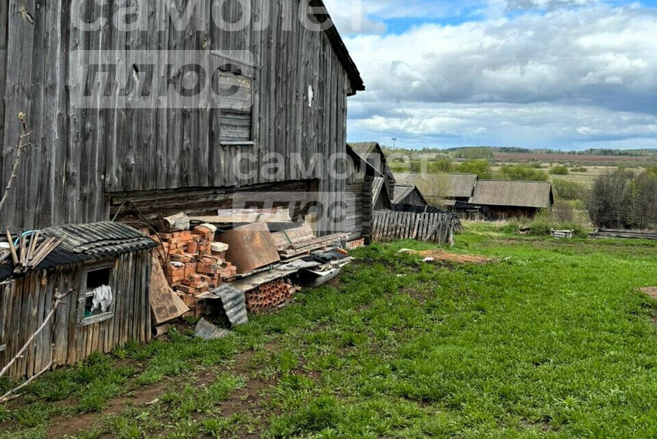
{"type": "Polygon", "coordinates": [[[191,231],[158,234],[168,254],[169,285],[195,315],[201,314],[196,294],[220,286],[237,273],[237,267],[225,259],[227,244],[214,242],[215,231],[211,225],[197,225],[191,231]]]}

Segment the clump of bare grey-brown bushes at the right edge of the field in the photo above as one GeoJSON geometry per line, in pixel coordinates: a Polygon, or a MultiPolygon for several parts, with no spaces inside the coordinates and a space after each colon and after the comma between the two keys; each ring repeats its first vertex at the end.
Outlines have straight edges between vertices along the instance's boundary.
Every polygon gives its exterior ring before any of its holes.
{"type": "Polygon", "coordinates": [[[598,177],[589,197],[589,215],[597,227],[657,227],[657,167],[638,175],[617,169],[598,177]]]}

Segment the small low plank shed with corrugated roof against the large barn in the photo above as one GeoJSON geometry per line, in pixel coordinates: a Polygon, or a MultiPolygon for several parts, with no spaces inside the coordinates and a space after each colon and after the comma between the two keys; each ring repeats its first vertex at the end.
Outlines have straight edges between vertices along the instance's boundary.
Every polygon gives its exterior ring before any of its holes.
{"type": "Polygon", "coordinates": [[[11,262],[0,265],[0,366],[44,323],[12,377],[150,340],[153,240],[111,222],[51,227],[40,236],[62,242],[36,268],[16,274],[11,262]]]}

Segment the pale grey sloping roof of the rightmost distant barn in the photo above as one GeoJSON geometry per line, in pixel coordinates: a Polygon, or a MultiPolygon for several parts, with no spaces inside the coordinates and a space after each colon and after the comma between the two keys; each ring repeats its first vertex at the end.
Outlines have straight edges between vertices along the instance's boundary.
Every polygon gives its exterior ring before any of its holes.
{"type": "Polygon", "coordinates": [[[552,184],[546,181],[479,180],[469,203],[549,208],[554,197],[552,184]]]}

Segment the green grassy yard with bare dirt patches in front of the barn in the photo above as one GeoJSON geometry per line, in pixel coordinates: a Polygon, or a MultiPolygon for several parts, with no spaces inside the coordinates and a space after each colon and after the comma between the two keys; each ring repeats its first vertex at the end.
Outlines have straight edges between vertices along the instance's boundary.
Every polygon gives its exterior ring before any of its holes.
{"type": "MultiPolygon", "coordinates": [[[[654,438],[657,243],[467,224],[437,265],[355,253],[233,336],[185,329],[45,375],[3,438],[654,438]]],[[[2,431],[2,430],[0,430],[2,431]]]]}

